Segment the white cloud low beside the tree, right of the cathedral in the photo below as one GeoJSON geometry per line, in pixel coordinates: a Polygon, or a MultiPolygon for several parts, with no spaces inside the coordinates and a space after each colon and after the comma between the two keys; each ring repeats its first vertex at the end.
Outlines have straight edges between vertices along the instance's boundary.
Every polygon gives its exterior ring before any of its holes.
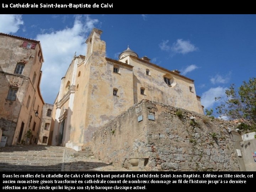
{"type": "Polygon", "coordinates": [[[201,97],[201,103],[204,108],[213,107],[214,104],[221,102],[221,100],[215,101],[215,97],[225,97],[225,90],[228,89],[227,87],[215,87],[210,88],[208,91],[203,92],[201,97]]]}

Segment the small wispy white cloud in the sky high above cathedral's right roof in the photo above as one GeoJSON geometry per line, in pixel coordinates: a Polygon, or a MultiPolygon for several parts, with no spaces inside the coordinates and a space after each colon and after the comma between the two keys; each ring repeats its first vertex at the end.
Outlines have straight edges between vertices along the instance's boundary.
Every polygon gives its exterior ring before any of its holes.
{"type": "Polygon", "coordinates": [[[182,39],[177,39],[177,41],[172,44],[171,50],[174,53],[186,54],[189,52],[196,51],[198,48],[190,43],[190,41],[184,41],[182,39]]]}

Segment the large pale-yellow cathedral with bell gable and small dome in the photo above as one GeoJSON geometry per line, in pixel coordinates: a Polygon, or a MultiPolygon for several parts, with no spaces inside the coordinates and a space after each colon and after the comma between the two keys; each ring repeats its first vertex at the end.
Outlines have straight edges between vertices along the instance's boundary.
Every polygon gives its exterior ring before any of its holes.
{"type": "Polygon", "coordinates": [[[53,145],[81,150],[95,130],[142,99],[203,114],[192,79],[139,58],[129,48],[119,60],[106,58],[101,33],[92,30],[86,57],[75,55],[61,80],[53,109],[53,145]]]}

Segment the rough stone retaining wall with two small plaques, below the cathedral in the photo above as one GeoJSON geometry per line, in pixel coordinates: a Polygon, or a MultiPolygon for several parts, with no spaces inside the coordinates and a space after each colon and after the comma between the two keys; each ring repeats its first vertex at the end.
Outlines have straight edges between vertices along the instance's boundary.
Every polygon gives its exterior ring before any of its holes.
{"type": "Polygon", "coordinates": [[[94,132],[91,148],[130,170],[239,171],[228,128],[233,124],[142,100],[94,132]]]}

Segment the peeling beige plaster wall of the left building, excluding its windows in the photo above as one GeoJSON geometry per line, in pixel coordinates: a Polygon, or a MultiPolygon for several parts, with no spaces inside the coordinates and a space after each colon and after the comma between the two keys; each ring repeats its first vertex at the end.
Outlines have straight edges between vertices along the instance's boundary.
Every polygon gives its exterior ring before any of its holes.
{"type": "MultiPolygon", "coordinates": [[[[39,43],[36,43],[35,49],[22,48],[24,41],[30,42],[27,39],[0,35],[0,87],[3,88],[0,93],[0,126],[3,135],[8,137],[7,145],[17,143],[22,122],[24,122],[22,139],[24,138],[25,132],[28,130],[30,116],[32,115],[34,118],[32,103],[35,96],[43,103],[38,85],[43,62],[43,59],[39,61],[38,57],[40,46],[39,43]],[[25,65],[22,75],[14,74],[17,63],[25,65]],[[33,83],[34,72],[36,78],[33,83]],[[10,86],[18,88],[16,101],[6,99],[10,86]],[[36,94],[37,92],[38,94],[36,94]],[[27,108],[29,96],[31,99],[27,108]]],[[[32,43],[35,42],[32,41],[32,43]]],[[[40,106],[42,107],[42,104],[40,106]]],[[[40,120],[36,120],[36,122],[39,127],[40,120]]]]}

